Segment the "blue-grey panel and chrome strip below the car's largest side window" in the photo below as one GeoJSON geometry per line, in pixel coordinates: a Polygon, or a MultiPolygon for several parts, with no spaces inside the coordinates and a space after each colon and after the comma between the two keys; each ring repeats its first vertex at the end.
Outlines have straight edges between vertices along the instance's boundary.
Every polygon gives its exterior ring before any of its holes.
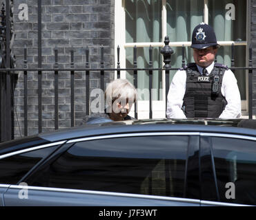
{"type": "Polygon", "coordinates": [[[41,186],[26,186],[28,199],[13,197],[23,189],[23,186],[10,185],[3,194],[4,206],[106,206],[106,200],[111,202],[111,206],[200,206],[199,199],[41,186]],[[43,197],[38,197],[40,194],[43,197]],[[73,201],[63,199],[70,196],[73,201]],[[133,203],[136,200],[139,203],[133,203]]]}

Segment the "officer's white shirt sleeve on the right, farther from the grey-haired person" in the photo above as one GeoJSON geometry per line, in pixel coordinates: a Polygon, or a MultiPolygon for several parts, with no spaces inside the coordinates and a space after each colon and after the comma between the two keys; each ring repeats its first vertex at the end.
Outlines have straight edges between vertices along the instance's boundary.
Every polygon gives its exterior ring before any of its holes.
{"type": "Polygon", "coordinates": [[[221,94],[226,98],[227,104],[224,111],[219,115],[219,118],[240,118],[241,96],[237,86],[237,79],[230,69],[226,70],[223,76],[221,94]]]}

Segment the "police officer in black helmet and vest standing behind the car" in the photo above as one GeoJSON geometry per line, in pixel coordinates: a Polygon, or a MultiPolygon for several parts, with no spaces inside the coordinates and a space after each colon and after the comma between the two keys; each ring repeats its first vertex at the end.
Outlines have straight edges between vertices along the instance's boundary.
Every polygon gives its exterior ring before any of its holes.
{"type": "Polygon", "coordinates": [[[219,48],[210,25],[200,23],[193,30],[195,63],[179,69],[167,97],[168,118],[239,118],[241,98],[233,72],[215,63],[219,48]]]}

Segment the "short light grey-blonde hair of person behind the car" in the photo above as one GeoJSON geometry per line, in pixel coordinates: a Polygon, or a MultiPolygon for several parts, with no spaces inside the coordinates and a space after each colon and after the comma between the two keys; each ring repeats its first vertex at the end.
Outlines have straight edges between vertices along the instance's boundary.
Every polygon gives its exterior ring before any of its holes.
{"type": "Polygon", "coordinates": [[[128,80],[118,78],[108,84],[104,93],[106,106],[112,105],[112,102],[119,99],[127,99],[136,102],[137,90],[128,80]]]}

